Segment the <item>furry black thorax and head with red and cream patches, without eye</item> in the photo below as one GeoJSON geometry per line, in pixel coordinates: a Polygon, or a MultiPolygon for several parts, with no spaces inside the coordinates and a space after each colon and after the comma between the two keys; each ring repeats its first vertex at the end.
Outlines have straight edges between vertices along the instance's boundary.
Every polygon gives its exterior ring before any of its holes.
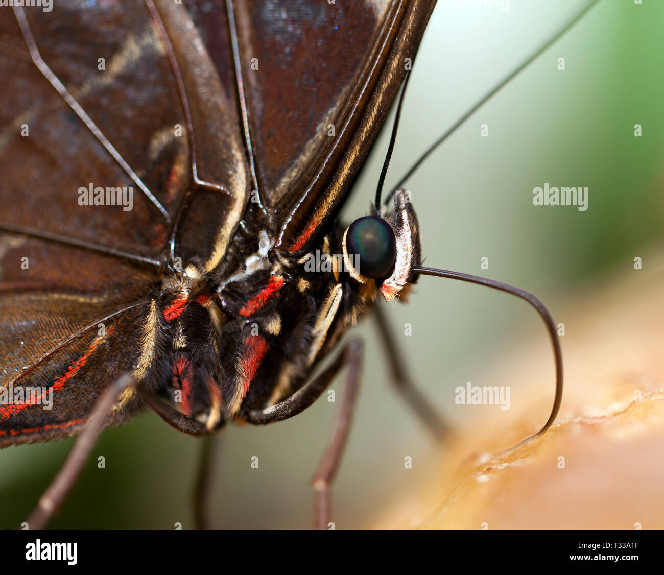
{"type": "Polygon", "coordinates": [[[353,226],[338,222],[305,253],[275,247],[260,230],[244,234],[216,270],[196,262],[171,270],[152,301],[135,372],[210,428],[283,400],[376,297],[394,299],[413,279],[416,220],[403,195],[395,206],[376,216],[401,246],[380,280],[361,275],[359,254],[348,250],[353,226]]]}

